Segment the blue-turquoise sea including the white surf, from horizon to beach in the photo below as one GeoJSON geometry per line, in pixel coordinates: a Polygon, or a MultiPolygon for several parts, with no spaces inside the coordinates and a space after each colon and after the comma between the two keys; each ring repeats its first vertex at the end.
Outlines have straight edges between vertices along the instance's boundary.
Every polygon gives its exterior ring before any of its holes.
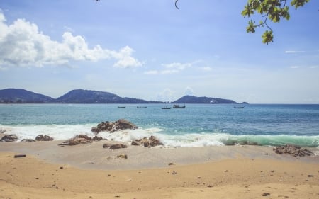
{"type": "Polygon", "coordinates": [[[289,143],[319,148],[319,105],[250,104],[239,109],[232,104],[186,104],[169,110],[163,106],[172,105],[1,104],[0,130],[20,140],[40,134],[66,140],[79,134],[93,136],[91,127],[101,121],[126,119],[138,130],[99,135],[124,142],[155,135],[166,147],[289,143]]]}

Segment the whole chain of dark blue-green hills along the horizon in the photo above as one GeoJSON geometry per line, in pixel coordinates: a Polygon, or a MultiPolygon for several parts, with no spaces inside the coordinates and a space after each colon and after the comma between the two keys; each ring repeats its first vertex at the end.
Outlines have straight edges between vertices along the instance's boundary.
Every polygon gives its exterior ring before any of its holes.
{"type": "MultiPolygon", "coordinates": [[[[162,101],[145,101],[138,98],[120,97],[103,91],[76,89],[59,98],[51,98],[25,89],[0,90],[0,103],[164,103],[162,101]]],[[[223,98],[184,96],[171,103],[236,103],[223,98]]],[[[247,102],[244,102],[247,103],[247,102]]]]}

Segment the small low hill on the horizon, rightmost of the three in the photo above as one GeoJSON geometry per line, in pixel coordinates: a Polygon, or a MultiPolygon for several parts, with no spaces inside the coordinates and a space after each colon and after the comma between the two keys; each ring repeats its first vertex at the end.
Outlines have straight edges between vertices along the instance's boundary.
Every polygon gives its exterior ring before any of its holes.
{"type": "Polygon", "coordinates": [[[184,96],[179,98],[173,103],[237,103],[232,100],[222,98],[208,98],[208,97],[196,97],[196,96],[184,96]]]}

